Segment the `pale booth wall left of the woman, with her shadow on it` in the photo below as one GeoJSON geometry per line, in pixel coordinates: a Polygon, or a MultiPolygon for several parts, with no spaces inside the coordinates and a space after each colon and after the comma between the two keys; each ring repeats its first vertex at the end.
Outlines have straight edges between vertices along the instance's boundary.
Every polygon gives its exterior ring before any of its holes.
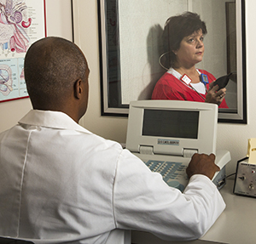
{"type": "Polygon", "coordinates": [[[119,1],[119,42],[122,104],[150,99],[155,83],[165,70],[162,33],[166,20],[188,10],[187,0],[119,1]]]}

